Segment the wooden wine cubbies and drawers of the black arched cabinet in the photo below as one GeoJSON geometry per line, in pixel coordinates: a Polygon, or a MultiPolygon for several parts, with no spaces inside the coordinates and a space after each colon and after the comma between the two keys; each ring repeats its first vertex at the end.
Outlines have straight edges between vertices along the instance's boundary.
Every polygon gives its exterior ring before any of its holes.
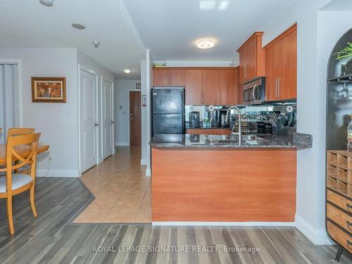
{"type": "Polygon", "coordinates": [[[352,153],[327,151],[327,232],[352,253],[352,153]]]}

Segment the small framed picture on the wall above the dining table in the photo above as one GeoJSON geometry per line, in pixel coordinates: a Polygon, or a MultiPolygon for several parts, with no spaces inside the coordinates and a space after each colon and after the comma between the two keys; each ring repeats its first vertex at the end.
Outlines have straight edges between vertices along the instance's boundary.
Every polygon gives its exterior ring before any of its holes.
{"type": "Polygon", "coordinates": [[[32,102],[65,103],[65,77],[32,77],[32,102]]]}

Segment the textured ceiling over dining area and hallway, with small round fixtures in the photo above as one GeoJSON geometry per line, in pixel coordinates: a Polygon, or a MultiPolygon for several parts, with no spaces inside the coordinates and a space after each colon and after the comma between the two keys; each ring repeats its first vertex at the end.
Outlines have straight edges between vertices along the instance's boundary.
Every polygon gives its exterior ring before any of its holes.
{"type": "Polygon", "coordinates": [[[139,79],[144,46],[122,0],[0,1],[0,46],[77,47],[117,73],[120,79],[139,79]],[[72,23],[86,26],[75,30],[72,23]],[[101,42],[95,49],[92,42],[101,42]],[[131,68],[129,75],[124,68],[131,68]]]}

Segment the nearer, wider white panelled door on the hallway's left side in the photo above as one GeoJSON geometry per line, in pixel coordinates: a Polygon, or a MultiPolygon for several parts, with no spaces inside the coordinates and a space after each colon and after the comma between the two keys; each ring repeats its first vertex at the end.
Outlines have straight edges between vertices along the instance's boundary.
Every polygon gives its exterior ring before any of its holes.
{"type": "Polygon", "coordinates": [[[80,70],[81,172],[96,165],[97,137],[96,76],[80,70]]]}

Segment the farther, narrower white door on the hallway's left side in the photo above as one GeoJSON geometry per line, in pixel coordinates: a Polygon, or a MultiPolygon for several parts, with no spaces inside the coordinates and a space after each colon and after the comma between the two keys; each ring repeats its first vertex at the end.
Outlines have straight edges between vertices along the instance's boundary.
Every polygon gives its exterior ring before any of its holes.
{"type": "Polygon", "coordinates": [[[102,81],[101,115],[103,135],[103,158],[113,155],[113,83],[102,81]]]}

